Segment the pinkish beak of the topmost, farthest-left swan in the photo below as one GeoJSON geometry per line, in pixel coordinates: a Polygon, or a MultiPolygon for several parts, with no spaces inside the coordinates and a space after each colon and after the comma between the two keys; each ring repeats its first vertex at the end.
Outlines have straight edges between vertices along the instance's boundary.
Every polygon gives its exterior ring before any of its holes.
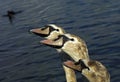
{"type": "Polygon", "coordinates": [[[30,32],[41,37],[47,37],[49,35],[49,27],[31,29],[30,32]]]}

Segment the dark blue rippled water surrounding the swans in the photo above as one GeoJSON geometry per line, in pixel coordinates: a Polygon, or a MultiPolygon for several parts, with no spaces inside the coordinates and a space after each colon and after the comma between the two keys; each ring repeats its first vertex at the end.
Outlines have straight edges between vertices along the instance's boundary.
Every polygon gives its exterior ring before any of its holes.
{"type": "Polygon", "coordinates": [[[0,0],[0,15],[0,82],[66,82],[56,50],[28,32],[48,23],[83,38],[111,82],[120,82],[119,0],[0,0]],[[23,12],[11,24],[7,10],[23,12]]]}

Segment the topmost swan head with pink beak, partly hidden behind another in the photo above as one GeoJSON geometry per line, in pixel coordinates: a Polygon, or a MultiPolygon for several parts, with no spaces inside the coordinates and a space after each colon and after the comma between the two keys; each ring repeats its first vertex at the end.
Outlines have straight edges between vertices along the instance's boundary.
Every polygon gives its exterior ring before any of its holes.
{"type": "Polygon", "coordinates": [[[30,32],[45,37],[46,39],[54,40],[58,38],[59,35],[64,34],[65,30],[55,24],[48,24],[42,28],[31,29],[30,32]]]}

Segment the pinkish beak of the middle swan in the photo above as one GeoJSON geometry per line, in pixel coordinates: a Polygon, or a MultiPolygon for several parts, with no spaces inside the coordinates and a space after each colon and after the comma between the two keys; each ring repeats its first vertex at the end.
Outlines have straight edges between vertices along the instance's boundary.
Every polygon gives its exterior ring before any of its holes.
{"type": "Polygon", "coordinates": [[[63,46],[63,38],[61,37],[58,40],[46,39],[46,40],[40,41],[40,43],[48,45],[53,48],[61,48],[63,46]]]}

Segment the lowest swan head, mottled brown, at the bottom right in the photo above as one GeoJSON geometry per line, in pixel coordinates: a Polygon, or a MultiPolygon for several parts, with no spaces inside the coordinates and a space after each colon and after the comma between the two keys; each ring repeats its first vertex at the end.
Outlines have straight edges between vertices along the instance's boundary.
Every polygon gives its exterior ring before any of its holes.
{"type": "Polygon", "coordinates": [[[80,71],[89,82],[110,82],[109,72],[99,61],[80,59],[78,62],[66,61],[64,65],[80,71]]]}

